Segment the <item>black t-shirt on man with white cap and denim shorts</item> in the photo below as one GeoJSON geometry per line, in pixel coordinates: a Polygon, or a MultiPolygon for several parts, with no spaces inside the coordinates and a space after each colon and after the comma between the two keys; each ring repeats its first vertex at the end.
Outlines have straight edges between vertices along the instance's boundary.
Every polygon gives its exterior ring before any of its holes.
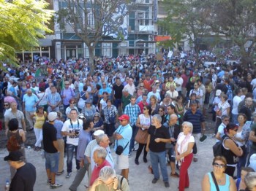
{"type": "Polygon", "coordinates": [[[53,141],[57,141],[57,130],[53,124],[45,122],[42,125],[42,139],[44,144],[45,152],[55,153],[58,152],[57,149],[53,146],[53,141]]]}

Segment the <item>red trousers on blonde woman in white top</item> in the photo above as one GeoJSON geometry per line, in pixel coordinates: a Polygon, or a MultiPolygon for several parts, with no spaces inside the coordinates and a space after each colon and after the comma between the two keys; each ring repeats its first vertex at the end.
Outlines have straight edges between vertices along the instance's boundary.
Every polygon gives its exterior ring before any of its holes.
{"type": "Polygon", "coordinates": [[[179,174],[179,191],[184,191],[185,187],[189,187],[189,174],[188,169],[193,159],[193,153],[184,157],[184,161],[181,163],[180,174],[179,174]]]}

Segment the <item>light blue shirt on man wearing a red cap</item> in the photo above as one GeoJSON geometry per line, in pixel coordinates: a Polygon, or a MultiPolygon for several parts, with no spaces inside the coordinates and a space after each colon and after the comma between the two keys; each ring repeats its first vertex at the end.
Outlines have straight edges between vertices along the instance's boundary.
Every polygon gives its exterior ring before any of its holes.
{"type": "Polygon", "coordinates": [[[132,127],[131,127],[131,125],[129,125],[129,124],[127,124],[125,126],[119,125],[119,127],[117,128],[115,133],[118,133],[123,137],[123,139],[116,140],[116,144],[115,144],[115,147],[114,147],[115,151],[116,151],[116,147],[118,145],[121,145],[122,147],[125,147],[127,145],[127,147],[124,149],[123,154],[128,155],[129,154],[129,144],[130,144],[129,141],[132,138],[132,127]]]}

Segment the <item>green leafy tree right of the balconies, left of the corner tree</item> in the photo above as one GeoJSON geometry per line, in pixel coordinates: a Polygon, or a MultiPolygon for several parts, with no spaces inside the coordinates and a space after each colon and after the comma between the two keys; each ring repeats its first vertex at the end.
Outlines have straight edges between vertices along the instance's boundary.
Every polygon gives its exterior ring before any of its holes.
{"type": "Polygon", "coordinates": [[[165,0],[164,7],[167,17],[159,22],[159,26],[164,26],[170,33],[173,45],[180,43],[184,39],[189,39],[190,44],[195,47],[198,55],[198,39],[203,34],[209,33],[209,27],[204,23],[206,9],[203,9],[203,0],[165,0]]]}

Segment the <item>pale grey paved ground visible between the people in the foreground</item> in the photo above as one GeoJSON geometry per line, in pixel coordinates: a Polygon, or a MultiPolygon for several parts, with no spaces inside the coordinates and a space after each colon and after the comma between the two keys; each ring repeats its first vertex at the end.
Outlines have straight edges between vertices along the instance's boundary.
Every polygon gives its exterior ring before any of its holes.
{"type": "MultiPolygon", "coordinates": [[[[211,171],[213,154],[212,154],[212,145],[214,144],[215,139],[211,138],[211,134],[208,134],[208,139],[205,142],[197,145],[198,148],[198,162],[192,162],[192,165],[189,168],[189,179],[190,179],[190,187],[187,190],[201,190],[200,182],[203,178],[203,175],[208,171],[211,171]]],[[[4,190],[5,180],[10,178],[10,169],[7,162],[3,160],[3,157],[7,155],[6,149],[0,150],[0,190],[4,190]]],[[[42,159],[40,156],[40,152],[34,152],[33,149],[26,149],[26,156],[28,158],[28,162],[32,163],[37,168],[37,182],[34,186],[35,191],[45,191],[50,190],[49,186],[46,183],[46,173],[45,173],[45,159],[42,159]]],[[[116,158],[116,154],[113,152],[114,159],[116,158]]],[[[148,163],[143,163],[143,156],[140,156],[140,165],[135,165],[135,152],[132,152],[132,157],[129,158],[129,187],[131,191],[149,191],[149,190],[178,190],[178,179],[170,177],[170,188],[166,189],[163,182],[162,177],[157,182],[157,184],[151,184],[151,180],[154,178],[148,172],[148,164],[149,164],[149,156],[148,163]]],[[[66,159],[65,159],[66,160],[66,159]]],[[[74,164],[75,160],[73,160],[74,164]]],[[[63,183],[63,187],[59,188],[59,190],[69,190],[69,185],[72,183],[72,180],[75,177],[75,165],[73,165],[73,173],[69,180],[65,179],[66,174],[62,174],[61,176],[57,176],[57,181],[63,183]]],[[[167,167],[168,174],[170,174],[170,166],[167,167]]],[[[116,169],[117,173],[120,174],[120,171],[116,169]]],[[[83,179],[83,182],[78,187],[78,191],[86,190],[84,185],[88,184],[87,177],[83,179]]]]}

